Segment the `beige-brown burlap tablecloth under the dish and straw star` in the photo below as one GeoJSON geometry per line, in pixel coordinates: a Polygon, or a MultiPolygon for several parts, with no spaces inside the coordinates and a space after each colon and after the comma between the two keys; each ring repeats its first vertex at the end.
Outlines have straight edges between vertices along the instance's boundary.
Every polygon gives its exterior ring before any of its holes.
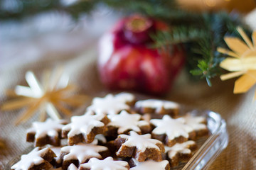
{"type": "MultiPolygon", "coordinates": [[[[102,91],[106,92],[97,77],[95,51],[95,48],[91,48],[82,55],[76,55],[78,57],[48,56],[37,62],[1,70],[1,102],[6,101],[6,89],[14,89],[17,84],[26,85],[24,75],[28,69],[40,77],[43,69],[56,64],[65,64],[66,71],[72,74],[71,81],[81,87],[82,93],[94,96],[102,91]]],[[[234,95],[233,83],[234,80],[215,79],[210,88],[204,81],[191,82],[186,74],[181,74],[169,94],[164,97],[194,108],[210,109],[225,118],[230,142],[210,169],[256,169],[256,101],[252,101],[255,89],[247,94],[234,95]]],[[[20,112],[0,113],[0,139],[6,143],[6,147],[0,149],[0,162],[3,164],[31,145],[25,142],[26,128],[30,127],[36,117],[23,125],[14,126],[13,121],[20,112]]]]}

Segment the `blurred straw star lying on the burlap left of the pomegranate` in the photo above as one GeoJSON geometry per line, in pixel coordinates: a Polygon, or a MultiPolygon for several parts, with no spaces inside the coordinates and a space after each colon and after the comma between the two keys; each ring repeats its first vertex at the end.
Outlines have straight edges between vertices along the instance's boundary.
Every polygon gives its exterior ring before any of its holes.
{"type": "Polygon", "coordinates": [[[49,70],[43,72],[42,84],[33,72],[26,72],[28,86],[16,86],[11,94],[18,97],[13,101],[7,101],[1,106],[2,111],[11,111],[26,107],[26,110],[18,116],[15,124],[23,123],[38,111],[39,120],[46,120],[46,113],[59,120],[61,115],[71,115],[66,106],[81,106],[88,99],[85,95],[74,94],[78,89],[75,85],[68,84],[68,77],[63,74],[63,69],[58,67],[53,73],[49,70]]]}

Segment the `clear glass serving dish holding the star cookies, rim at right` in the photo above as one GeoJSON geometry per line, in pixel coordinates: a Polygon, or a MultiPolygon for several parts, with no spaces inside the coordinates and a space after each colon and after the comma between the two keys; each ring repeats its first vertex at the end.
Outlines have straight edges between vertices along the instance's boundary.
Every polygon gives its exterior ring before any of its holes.
{"type": "MultiPolygon", "coordinates": [[[[220,152],[222,152],[223,149],[228,146],[228,132],[226,130],[226,123],[225,120],[221,118],[220,114],[213,111],[191,109],[186,106],[181,107],[181,115],[188,112],[192,115],[202,115],[206,117],[209,135],[196,140],[198,149],[188,162],[180,163],[178,166],[171,168],[171,170],[207,169],[214,159],[218,157],[220,152]]],[[[26,151],[24,151],[24,154],[27,154],[32,149],[32,146],[29,147],[26,149],[26,151]]],[[[12,159],[8,164],[6,164],[5,169],[10,170],[11,166],[18,162],[19,159],[20,157],[15,157],[12,159]]]]}

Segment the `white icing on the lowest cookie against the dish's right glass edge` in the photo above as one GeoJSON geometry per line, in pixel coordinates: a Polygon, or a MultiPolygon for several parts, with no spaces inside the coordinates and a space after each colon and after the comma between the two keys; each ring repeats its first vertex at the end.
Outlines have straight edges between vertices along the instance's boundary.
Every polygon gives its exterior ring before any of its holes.
{"type": "Polygon", "coordinates": [[[168,153],[168,157],[170,159],[173,159],[178,153],[191,154],[191,149],[189,149],[191,145],[196,145],[196,142],[194,142],[193,140],[188,140],[183,143],[176,143],[172,147],[165,146],[164,149],[165,152],[168,153]]]}

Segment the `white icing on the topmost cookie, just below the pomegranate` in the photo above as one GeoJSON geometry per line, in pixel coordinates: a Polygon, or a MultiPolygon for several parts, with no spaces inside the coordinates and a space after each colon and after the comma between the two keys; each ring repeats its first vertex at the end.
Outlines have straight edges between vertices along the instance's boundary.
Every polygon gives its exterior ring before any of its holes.
{"type": "MultiPolygon", "coordinates": [[[[117,114],[122,110],[129,110],[126,104],[128,94],[119,94],[114,96],[107,94],[104,98],[94,98],[92,105],[87,108],[87,111],[94,111],[97,114],[117,114]]],[[[130,96],[128,96],[129,101],[130,96]]]]}

